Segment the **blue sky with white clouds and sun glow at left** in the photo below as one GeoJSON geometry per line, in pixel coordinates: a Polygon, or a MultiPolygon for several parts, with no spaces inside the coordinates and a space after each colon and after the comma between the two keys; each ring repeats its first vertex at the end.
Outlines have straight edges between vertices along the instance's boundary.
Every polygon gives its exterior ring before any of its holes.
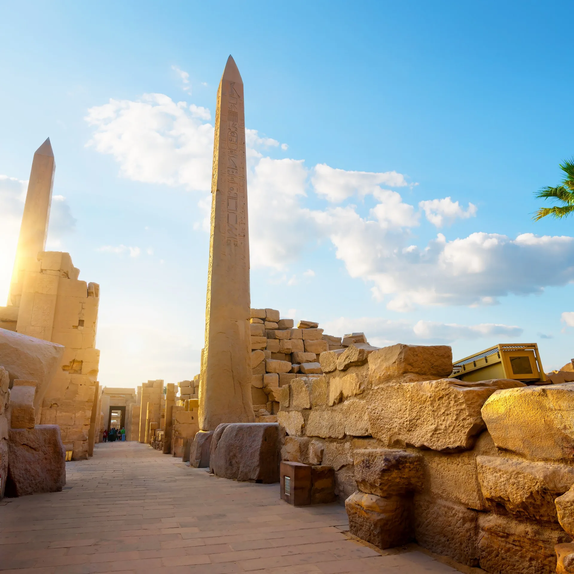
{"type": "Polygon", "coordinates": [[[99,380],[199,372],[216,91],[245,86],[251,306],[460,359],[574,357],[568,2],[0,2],[0,301],[32,156],[100,284],[99,380]]]}

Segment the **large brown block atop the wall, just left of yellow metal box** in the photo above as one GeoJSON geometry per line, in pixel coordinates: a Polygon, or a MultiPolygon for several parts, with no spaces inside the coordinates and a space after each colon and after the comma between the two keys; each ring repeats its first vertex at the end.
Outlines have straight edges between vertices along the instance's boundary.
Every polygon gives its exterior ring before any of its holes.
{"type": "Polygon", "coordinates": [[[452,350],[446,345],[404,345],[383,347],[369,355],[369,370],[374,382],[406,373],[448,377],[452,373],[452,350]]]}

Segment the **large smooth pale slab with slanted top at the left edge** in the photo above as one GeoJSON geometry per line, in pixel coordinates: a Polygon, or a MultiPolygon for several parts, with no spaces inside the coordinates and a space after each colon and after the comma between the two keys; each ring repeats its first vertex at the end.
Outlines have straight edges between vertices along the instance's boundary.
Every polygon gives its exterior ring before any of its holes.
{"type": "Polygon", "coordinates": [[[0,364],[15,379],[38,382],[36,409],[42,404],[63,354],[64,347],[58,344],[0,329],[0,364]]]}

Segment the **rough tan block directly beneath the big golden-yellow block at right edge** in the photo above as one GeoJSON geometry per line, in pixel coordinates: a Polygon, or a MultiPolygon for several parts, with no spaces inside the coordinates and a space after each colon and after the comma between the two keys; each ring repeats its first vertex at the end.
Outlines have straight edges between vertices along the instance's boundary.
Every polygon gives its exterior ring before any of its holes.
{"type": "Polygon", "coordinates": [[[557,522],[556,497],[574,484],[574,468],[563,464],[478,456],[476,466],[488,505],[501,505],[517,518],[557,522]]]}

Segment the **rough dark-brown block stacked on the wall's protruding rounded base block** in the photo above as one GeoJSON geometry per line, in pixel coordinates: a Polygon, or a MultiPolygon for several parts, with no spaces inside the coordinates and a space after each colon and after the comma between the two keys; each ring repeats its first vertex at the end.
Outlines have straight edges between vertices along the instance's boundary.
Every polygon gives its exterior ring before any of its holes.
{"type": "Polygon", "coordinates": [[[409,494],[422,486],[422,457],[419,454],[391,449],[357,449],[353,457],[355,480],[362,492],[392,497],[409,494]]]}

